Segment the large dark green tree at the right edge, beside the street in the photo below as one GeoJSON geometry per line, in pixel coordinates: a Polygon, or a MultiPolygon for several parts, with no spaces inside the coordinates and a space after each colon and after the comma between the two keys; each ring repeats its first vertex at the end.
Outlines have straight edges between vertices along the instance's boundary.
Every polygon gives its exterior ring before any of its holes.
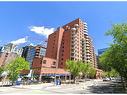
{"type": "Polygon", "coordinates": [[[106,35],[113,37],[113,43],[109,49],[104,52],[100,61],[105,64],[109,70],[116,70],[121,76],[123,87],[124,81],[127,81],[127,24],[115,24],[112,29],[106,32],[106,35]]]}

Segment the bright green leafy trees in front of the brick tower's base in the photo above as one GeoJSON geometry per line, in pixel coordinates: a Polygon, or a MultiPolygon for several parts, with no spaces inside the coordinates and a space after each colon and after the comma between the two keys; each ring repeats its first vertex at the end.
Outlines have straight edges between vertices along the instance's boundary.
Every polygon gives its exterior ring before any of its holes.
{"type": "Polygon", "coordinates": [[[74,61],[74,60],[67,60],[66,62],[67,69],[73,75],[74,82],[75,78],[82,73],[84,76],[89,76],[93,78],[96,74],[95,68],[90,65],[90,63],[83,63],[82,61],[74,61]]]}

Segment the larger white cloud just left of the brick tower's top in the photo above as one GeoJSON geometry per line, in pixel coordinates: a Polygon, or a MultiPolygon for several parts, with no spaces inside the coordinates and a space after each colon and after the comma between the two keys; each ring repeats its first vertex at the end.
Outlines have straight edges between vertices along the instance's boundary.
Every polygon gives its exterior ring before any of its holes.
{"type": "Polygon", "coordinates": [[[46,28],[44,26],[30,26],[29,27],[30,31],[39,34],[39,35],[44,35],[48,38],[48,35],[53,33],[55,31],[54,28],[46,28]]]}

